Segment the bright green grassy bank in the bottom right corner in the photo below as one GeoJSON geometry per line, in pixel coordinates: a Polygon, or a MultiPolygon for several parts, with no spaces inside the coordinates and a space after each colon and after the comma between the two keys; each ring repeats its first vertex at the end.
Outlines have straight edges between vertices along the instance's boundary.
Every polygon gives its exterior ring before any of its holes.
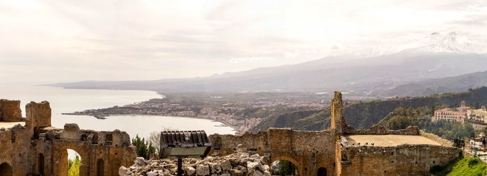
{"type": "Polygon", "coordinates": [[[433,166],[431,174],[437,176],[482,176],[487,174],[487,164],[479,158],[459,158],[445,166],[433,166]]]}

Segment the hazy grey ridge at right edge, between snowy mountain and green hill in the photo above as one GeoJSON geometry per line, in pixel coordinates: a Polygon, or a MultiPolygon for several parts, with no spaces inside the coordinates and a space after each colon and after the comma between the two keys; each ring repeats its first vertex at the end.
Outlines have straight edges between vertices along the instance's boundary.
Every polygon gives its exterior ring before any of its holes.
{"type": "Polygon", "coordinates": [[[382,95],[390,96],[426,96],[436,93],[455,93],[468,90],[469,88],[479,88],[487,86],[487,71],[464,74],[457,77],[447,77],[442,79],[430,79],[397,86],[390,90],[385,90],[382,95]]]}

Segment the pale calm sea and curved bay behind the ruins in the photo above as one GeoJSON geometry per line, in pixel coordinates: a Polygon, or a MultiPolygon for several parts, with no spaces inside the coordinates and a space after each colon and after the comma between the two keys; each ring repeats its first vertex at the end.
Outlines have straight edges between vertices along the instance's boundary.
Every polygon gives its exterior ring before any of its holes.
{"type": "Polygon", "coordinates": [[[31,101],[48,101],[52,109],[51,126],[63,128],[66,123],[77,123],[80,129],[97,131],[126,131],[131,138],[136,135],[147,138],[153,131],[165,129],[205,130],[209,134],[234,134],[234,129],[221,122],[201,118],[171,117],[158,115],[113,115],[104,120],[88,115],[63,115],[86,109],[102,109],[123,106],[154,98],[163,98],[153,91],[145,90],[94,90],[65,89],[51,86],[5,86],[0,85],[0,99],[21,101],[25,117],[25,105],[31,101]],[[224,127],[221,127],[224,126],[224,127]]]}

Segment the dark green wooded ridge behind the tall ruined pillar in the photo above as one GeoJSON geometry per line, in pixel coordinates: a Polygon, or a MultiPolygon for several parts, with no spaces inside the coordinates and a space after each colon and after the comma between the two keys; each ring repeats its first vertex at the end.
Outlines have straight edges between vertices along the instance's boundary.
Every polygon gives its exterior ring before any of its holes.
{"type": "MultiPolygon", "coordinates": [[[[371,102],[352,102],[344,106],[346,122],[357,129],[367,129],[377,124],[399,106],[413,108],[458,104],[465,100],[468,104],[487,104],[487,87],[468,90],[463,93],[440,93],[426,97],[403,97],[371,102]]],[[[253,131],[269,127],[292,127],[298,130],[316,131],[329,127],[330,109],[319,112],[292,112],[273,116],[262,121],[253,131]]]]}

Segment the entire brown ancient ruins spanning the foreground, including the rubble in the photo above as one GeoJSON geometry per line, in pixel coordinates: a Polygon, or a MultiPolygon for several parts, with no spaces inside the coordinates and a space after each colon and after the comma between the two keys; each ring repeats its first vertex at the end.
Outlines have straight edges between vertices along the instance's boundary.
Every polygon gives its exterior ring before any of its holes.
{"type": "MultiPolygon", "coordinates": [[[[194,162],[189,160],[186,175],[269,175],[268,167],[278,160],[294,163],[298,175],[429,175],[432,166],[445,165],[461,155],[450,141],[417,127],[388,130],[346,125],[340,92],[335,92],[331,109],[332,125],[323,131],[271,128],[241,136],[210,135],[209,155],[215,161],[191,166],[194,162]],[[255,170],[248,173],[249,167],[255,170]],[[244,168],[247,173],[241,172],[244,168]]],[[[18,101],[0,101],[0,125],[22,122],[0,129],[2,176],[67,175],[66,149],[81,155],[80,175],[175,174],[174,159],[136,159],[125,132],[83,130],[76,124],[51,127],[49,102],[31,102],[26,105],[26,118],[21,114],[18,101]]]]}

